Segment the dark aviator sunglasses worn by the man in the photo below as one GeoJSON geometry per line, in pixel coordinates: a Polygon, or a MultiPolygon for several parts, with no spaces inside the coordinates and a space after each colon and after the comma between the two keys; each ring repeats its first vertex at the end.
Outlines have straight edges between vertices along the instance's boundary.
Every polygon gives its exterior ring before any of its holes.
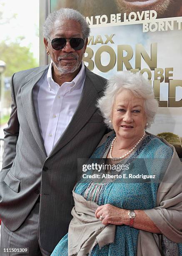
{"type": "Polygon", "coordinates": [[[51,41],[51,45],[52,48],[55,50],[61,50],[65,47],[66,42],[69,41],[70,42],[70,46],[74,49],[74,50],[81,50],[85,44],[85,41],[83,38],[79,38],[79,37],[72,37],[72,38],[64,38],[64,37],[58,37],[58,38],[54,38],[51,41]]]}

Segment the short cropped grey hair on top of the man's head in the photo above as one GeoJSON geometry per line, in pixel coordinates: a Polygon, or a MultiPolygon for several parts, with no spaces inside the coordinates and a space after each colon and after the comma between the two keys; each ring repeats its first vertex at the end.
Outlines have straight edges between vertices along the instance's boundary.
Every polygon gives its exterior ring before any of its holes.
{"type": "Polygon", "coordinates": [[[50,13],[43,24],[43,36],[47,41],[50,39],[50,34],[56,20],[75,20],[80,23],[83,38],[88,38],[90,35],[90,27],[81,13],[70,8],[60,8],[50,13]]]}

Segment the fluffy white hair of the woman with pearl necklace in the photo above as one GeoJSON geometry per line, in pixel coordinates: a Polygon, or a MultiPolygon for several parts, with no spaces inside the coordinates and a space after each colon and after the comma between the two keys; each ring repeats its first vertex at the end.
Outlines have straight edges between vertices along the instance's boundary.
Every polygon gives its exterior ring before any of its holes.
{"type": "Polygon", "coordinates": [[[158,102],[155,100],[152,86],[141,74],[133,74],[130,71],[123,71],[111,77],[105,88],[104,95],[98,100],[97,107],[100,109],[104,121],[107,126],[113,129],[110,119],[112,116],[112,108],[114,100],[119,91],[124,89],[132,92],[136,97],[144,100],[144,110],[147,117],[149,128],[154,122],[155,115],[158,109],[158,102]]]}

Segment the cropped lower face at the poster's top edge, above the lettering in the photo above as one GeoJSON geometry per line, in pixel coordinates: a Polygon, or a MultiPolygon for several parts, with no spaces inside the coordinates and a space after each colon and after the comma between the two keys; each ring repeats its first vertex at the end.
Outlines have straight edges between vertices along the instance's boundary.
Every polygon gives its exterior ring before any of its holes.
{"type": "Polygon", "coordinates": [[[142,10],[155,10],[157,18],[173,12],[174,4],[180,5],[179,0],[115,0],[115,2],[120,12],[129,14],[142,10]]]}

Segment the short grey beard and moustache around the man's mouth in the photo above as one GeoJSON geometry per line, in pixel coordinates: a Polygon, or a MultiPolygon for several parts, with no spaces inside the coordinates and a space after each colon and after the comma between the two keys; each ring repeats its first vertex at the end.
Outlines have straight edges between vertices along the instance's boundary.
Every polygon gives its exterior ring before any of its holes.
{"type": "Polygon", "coordinates": [[[57,58],[57,61],[60,61],[62,57],[76,57],[77,61],[74,66],[61,66],[59,62],[52,61],[55,64],[55,67],[57,68],[59,74],[69,74],[75,72],[81,65],[82,61],[79,61],[79,56],[78,54],[65,54],[64,56],[60,56],[57,58]]]}

